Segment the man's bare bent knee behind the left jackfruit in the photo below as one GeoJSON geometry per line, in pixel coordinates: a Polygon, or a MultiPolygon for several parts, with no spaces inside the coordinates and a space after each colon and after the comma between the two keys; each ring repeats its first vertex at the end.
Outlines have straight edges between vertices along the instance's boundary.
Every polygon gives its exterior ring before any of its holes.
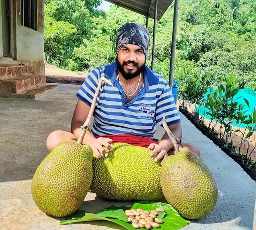
{"type": "Polygon", "coordinates": [[[46,140],[46,146],[49,150],[52,150],[57,144],[62,143],[63,141],[73,141],[75,142],[77,137],[67,131],[56,130],[49,134],[46,140]]]}

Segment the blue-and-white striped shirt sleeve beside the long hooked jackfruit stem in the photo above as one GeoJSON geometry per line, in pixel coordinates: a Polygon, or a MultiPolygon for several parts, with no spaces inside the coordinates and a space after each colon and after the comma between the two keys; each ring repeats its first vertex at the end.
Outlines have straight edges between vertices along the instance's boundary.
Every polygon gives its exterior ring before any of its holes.
{"type": "MultiPolygon", "coordinates": [[[[92,70],[92,72],[86,77],[82,83],[76,97],[85,102],[87,105],[91,106],[92,100],[94,98],[95,91],[98,86],[100,78],[100,71],[98,69],[92,70]]],[[[98,99],[96,106],[98,105],[98,99]]]]}

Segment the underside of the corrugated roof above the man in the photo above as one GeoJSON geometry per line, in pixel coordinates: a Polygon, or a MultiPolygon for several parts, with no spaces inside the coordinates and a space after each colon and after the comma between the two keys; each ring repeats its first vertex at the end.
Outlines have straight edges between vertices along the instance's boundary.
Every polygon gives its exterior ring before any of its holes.
{"type": "MultiPolygon", "coordinates": [[[[154,19],[154,12],[155,12],[155,1],[154,0],[106,0],[111,2],[115,5],[124,7],[128,10],[132,10],[134,12],[140,13],[142,15],[147,15],[150,18],[154,19]]],[[[171,5],[173,0],[158,0],[158,13],[157,13],[157,20],[160,20],[161,17],[164,15],[165,11],[171,5]]]]}

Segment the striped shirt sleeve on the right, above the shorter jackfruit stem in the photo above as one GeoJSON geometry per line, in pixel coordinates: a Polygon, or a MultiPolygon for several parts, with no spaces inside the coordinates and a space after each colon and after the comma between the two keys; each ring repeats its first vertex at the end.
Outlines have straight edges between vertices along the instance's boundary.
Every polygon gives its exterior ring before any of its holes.
{"type": "Polygon", "coordinates": [[[180,114],[177,110],[174,96],[169,84],[166,84],[156,104],[156,124],[162,126],[162,119],[165,116],[167,125],[180,123],[180,114]]]}

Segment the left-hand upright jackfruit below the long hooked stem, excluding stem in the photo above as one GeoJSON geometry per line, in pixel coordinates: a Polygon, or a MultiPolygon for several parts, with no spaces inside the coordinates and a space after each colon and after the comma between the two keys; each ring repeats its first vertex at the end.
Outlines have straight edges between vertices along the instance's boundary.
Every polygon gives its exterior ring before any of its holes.
{"type": "Polygon", "coordinates": [[[32,179],[32,196],[46,214],[65,217],[84,201],[92,181],[92,149],[75,142],[58,144],[32,179]]]}

